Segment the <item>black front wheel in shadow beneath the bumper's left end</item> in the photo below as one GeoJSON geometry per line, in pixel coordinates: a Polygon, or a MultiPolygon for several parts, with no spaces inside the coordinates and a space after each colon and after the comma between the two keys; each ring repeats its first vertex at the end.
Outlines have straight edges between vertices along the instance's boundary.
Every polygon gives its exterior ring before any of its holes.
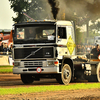
{"type": "Polygon", "coordinates": [[[31,84],[34,81],[34,78],[30,74],[21,74],[21,80],[24,84],[31,84]]]}

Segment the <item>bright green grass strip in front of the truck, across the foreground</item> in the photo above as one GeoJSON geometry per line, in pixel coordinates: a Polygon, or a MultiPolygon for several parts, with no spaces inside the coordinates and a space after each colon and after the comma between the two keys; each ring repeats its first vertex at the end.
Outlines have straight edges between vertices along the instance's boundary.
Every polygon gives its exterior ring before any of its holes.
{"type": "Polygon", "coordinates": [[[47,91],[62,91],[62,90],[78,90],[78,89],[94,89],[100,88],[100,83],[78,83],[65,85],[50,85],[50,86],[33,86],[33,87],[18,87],[18,88],[0,88],[0,95],[8,94],[23,94],[36,93],[47,91]]]}

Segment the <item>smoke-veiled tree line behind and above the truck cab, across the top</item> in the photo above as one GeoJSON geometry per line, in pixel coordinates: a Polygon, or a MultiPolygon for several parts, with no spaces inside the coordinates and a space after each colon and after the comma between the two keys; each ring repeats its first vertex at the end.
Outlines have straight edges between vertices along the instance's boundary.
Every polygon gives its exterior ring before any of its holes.
{"type": "MultiPolygon", "coordinates": [[[[100,21],[97,21],[100,19],[100,0],[9,0],[9,2],[17,15],[13,17],[13,21],[17,23],[31,20],[30,18],[54,19],[52,15],[54,12],[57,13],[57,20],[73,20],[76,26],[86,25],[87,37],[94,36],[93,34],[100,31],[100,21]],[[54,9],[54,6],[57,9],[54,9]],[[92,23],[90,27],[89,22],[92,23]]],[[[80,29],[77,28],[76,36],[79,34],[80,29]]]]}

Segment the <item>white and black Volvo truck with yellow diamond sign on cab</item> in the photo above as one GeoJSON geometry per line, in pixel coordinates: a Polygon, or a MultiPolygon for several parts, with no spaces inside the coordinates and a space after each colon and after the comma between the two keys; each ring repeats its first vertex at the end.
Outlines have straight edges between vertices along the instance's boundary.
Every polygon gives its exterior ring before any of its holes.
{"type": "Polygon", "coordinates": [[[100,82],[99,59],[75,53],[74,27],[73,21],[64,20],[14,24],[13,74],[20,74],[24,84],[41,78],[55,78],[65,85],[75,79],[100,82]],[[35,37],[29,36],[30,29],[35,37]]]}

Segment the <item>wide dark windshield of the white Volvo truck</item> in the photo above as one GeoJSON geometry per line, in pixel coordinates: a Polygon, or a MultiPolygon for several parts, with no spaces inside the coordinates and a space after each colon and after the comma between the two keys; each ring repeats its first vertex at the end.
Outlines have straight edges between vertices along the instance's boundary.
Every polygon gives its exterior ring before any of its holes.
{"type": "Polygon", "coordinates": [[[55,26],[25,26],[16,27],[15,43],[54,43],[55,26]]]}

